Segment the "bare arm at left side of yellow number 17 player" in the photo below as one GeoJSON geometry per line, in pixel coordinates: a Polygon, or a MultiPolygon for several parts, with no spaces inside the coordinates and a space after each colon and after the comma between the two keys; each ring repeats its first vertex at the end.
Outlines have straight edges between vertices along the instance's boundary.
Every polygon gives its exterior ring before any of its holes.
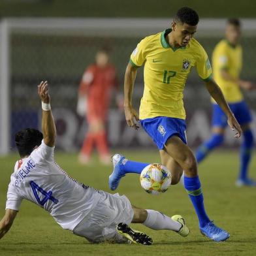
{"type": "Polygon", "coordinates": [[[133,86],[135,84],[136,74],[136,67],[133,67],[131,63],[128,63],[125,71],[123,108],[125,110],[125,120],[127,122],[127,125],[135,129],[138,129],[138,125],[136,125],[136,121],[138,121],[138,114],[136,113],[136,110],[132,106],[133,86]]]}

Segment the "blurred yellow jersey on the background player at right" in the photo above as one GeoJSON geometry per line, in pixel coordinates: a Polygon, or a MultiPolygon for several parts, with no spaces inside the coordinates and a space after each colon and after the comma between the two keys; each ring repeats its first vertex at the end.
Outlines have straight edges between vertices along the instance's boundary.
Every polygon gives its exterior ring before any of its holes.
{"type": "MultiPolygon", "coordinates": [[[[242,47],[232,46],[227,40],[221,40],[212,54],[212,69],[214,80],[228,103],[236,103],[243,100],[240,86],[237,82],[225,80],[221,76],[221,70],[225,69],[234,78],[239,78],[242,69],[242,47]]],[[[215,103],[214,99],[212,101],[215,103]]]]}

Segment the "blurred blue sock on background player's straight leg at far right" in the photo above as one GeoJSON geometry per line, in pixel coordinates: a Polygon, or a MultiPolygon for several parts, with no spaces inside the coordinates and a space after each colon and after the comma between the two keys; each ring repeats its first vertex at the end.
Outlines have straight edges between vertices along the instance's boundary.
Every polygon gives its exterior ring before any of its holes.
{"type": "Polygon", "coordinates": [[[244,180],[248,178],[248,167],[251,160],[251,151],[253,148],[253,133],[246,130],[243,133],[244,140],[240,148],[240,174],[239,178],[244,180]]]}

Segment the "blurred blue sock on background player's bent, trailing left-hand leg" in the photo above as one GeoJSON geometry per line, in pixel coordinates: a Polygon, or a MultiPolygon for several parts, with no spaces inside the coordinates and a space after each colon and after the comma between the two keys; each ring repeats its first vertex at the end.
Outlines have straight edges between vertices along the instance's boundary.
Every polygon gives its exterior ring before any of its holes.
{"type": "Polygon", "coordinates": [[[204,142],[195,153],[195,157],[197,158],[197,163],[200,163],[200,161],[202,161],[204,157],[206,157],[206,155],[208,155],[208,153],[211,150],[219,146],[223,142],[223,140],[224,140],[223,135],[214,133],[212,137],[206,142],[204,142]]]}

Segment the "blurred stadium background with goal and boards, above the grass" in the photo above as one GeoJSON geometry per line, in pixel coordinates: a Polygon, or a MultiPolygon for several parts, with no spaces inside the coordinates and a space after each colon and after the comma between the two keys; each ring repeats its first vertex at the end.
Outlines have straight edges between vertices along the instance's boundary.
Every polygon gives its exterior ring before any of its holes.
{"type": "MultiPolygon", "coordinates": [[[[3,27],[8,27],[8,57],[6,62],[2,56],[1,63],[4,75],[8,66],[10,100],[7,114],[9,118],[1,122],[2,125],[9,123],[10,127],[7,129],[10,135],[9,146],[5,148],[14,146],[13,136],[19,129],[40,127],[39,103],[37,95],[32,91],[39,80],[47,79],[51,86],[56,117],[57,148],[76,152],[87,127],[84,119],[76,114],[77,90],[84,69],[94,61],[95,52],[103,47],[110,50],[111,61],[118,71],[122,89],[125,67],[136,44],[146,35],[168,27],[174,10],[181,5],[189,4],[197,8],[201,18],[200,25],[204,27],[200,29],[199,26],[196,38],[206,48],[209,57],[216,43],[223,37],[225,25],[225,20],[215,18],[224,15],[247,18],[244,19],[242,38],[242,77],[255,81],[256,59],[253,55],[256,22],[251,19],[253,5],[250,1],[245,1],[247,5],[242,6],[231,3],[215,1],[209,10],[203,1],[161,1],[161,5],[157,6],[155,1],[140,1],[139,4],[129,1],[129,4],[124,2],[122,5],[114,0],[74,1],[73,5],[68,5],[67,1],[1,1],[2,35],[3,27]],[[147,8],[144,8],[145,5],[147,8]]],[[[2,36],[0,41],[2,45],[3,38],[2,36]]],[[[2,50],[2,55],[7,51],[2,50]]],[[[142,92],[143,71],[140,69],[135,85],[136,108],[142,92]]],[[[4,93],[2,97],[5,97],[4,93]]],[[[255,109],[256,92],[246,92],[245,95],[251,108],[255,109]]],[[[195,71],[189,76],[185,88],[185,106],[187,138],[189,144],[195,147],[210,136],[211,114],[208,93],[195,71]]],[[[3,116],[3,108],[1,109],[3,116]]],[[[0,127],[3,129],[3,126],[0,127]]],[[[255,123],[253,130],[256,131],[255,123]]],[[[0,135],[3,135],[1,128],[0,135]]],[[[6,140],[7,135],[0,138],[6,140]]],[[[114,106],[108,118],[108,141],[112,148],[154,148],[152,140],[144,131],[136,132],[126,127],[123,113],[114,106]]],[[[233,139],[232,133],[227,133],[225,146],[231,148],[238,144],[239,141],[233,139]]],[[[4,150],[2,146],[1,152],[7,153],[8,150],[4,150]]]]}

